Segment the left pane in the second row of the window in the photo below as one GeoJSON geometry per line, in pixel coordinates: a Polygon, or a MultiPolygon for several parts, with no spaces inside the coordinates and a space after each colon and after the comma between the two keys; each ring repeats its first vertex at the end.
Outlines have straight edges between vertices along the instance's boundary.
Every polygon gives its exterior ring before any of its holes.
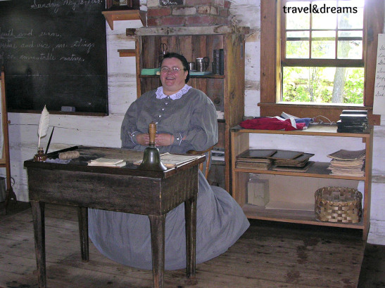
{"type": "Polygon", "coordinates": [[[309,58],[309,32],[287,32],[286,58],[309,58]]]}

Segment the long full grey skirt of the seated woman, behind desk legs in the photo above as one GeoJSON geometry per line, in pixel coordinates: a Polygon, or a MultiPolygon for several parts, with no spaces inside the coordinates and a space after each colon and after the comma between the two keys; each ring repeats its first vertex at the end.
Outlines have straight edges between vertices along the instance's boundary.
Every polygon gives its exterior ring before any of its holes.
{"type": "MultiPolygon", "coordinates": [[[[246,231],[248,220],[228,192],[210,186],[199,171],[196,216],[196,263],[227,251],[246,231]]],[[[165,269],[186,267],[184,203],[165,221],[165,269]]],[[[89,209],[89,237],[104,256],[118,263],[152,269],[149,217],[89,209]]]]}

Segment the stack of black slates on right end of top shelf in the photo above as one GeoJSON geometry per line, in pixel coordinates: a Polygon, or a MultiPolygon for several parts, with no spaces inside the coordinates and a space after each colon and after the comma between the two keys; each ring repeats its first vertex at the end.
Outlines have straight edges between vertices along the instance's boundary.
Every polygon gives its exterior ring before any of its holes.
{"type": "Polygon", "coordinates": [[[367,129],[366,110],[343,110],[337,121],[337,132],[362,133],[367,129]]]}

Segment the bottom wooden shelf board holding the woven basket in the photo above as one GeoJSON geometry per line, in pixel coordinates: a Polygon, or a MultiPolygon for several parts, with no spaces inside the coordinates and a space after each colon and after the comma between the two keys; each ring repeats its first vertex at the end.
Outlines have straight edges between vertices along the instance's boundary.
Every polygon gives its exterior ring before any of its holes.
{"type": "Polygon", "coordinates": [[[242,209],[244,210],[246,217],[251,219],[361,230],[364,229],[362,220],[360,223],[332,223],[317,221],[315,220],[314,211],[265,209],[265,207],[251,204],[244,204],[242,209]]]}

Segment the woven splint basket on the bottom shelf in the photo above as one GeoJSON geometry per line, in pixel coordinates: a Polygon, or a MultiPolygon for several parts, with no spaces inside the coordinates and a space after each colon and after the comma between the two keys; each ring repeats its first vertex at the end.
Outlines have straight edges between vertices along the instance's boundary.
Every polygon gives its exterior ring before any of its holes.
{"type": "Polygon", "coordinates": [[[320,188],[315,191],[315,218],[323,222],[358,223],[361,201],[361,192],[353,188],[320,188]]]}

